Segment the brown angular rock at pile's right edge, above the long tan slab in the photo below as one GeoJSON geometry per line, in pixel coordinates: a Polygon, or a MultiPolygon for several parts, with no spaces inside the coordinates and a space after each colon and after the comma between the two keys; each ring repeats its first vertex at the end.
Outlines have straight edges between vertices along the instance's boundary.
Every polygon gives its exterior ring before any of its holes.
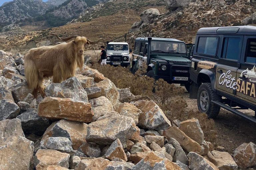
{"type": "Polygon", "coordinates": [[[188,137],[202,145],[204,141],[204,132],[201,129],[197,119],[190,119],[180,123],[179,129],[183,131],[188,137]]]}

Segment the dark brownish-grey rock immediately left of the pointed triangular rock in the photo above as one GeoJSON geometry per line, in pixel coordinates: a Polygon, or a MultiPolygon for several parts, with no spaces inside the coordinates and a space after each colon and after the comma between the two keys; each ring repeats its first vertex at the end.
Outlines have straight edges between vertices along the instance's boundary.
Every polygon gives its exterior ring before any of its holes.
{"type": "Polygon", "coordinates": [[[95,143],[85,142],[79,147],[78,151],[84,153],[86,156],[91,157],[91,158],[100,157],[99,145],[97,145],[95,143]]]}

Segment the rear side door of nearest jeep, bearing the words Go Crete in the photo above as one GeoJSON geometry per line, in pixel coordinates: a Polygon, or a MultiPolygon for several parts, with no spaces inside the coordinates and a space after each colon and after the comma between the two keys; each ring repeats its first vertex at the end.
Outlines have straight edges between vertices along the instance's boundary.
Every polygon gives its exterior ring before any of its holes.
{"type": "Polygon", "coordinates": [[[236,73],[239,67],[243,36],[223,36],[221,58],[216,68],[216,87],[231,96],[236,94],[236,73]]]}

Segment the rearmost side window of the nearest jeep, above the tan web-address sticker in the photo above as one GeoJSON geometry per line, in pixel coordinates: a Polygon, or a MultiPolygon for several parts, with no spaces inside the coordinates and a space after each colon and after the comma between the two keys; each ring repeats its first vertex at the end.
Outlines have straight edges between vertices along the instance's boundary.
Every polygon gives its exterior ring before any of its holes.
{"type": "Polygon", "coordinates": [[[216,55],[218,40],[218,37],[200,37],[197,52],[208,55],[216,55]]]}

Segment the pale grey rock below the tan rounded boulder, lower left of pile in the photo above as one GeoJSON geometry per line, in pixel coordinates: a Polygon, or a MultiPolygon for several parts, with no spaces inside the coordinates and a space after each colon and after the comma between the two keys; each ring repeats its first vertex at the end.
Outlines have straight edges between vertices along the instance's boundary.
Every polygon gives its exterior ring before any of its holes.
{"type": "Polygon", "coordinates": [[[49,137],[46,143],[46,148],[55,149],[64,153],[73,151],[72,143],[67,137],[49,137]]]}

